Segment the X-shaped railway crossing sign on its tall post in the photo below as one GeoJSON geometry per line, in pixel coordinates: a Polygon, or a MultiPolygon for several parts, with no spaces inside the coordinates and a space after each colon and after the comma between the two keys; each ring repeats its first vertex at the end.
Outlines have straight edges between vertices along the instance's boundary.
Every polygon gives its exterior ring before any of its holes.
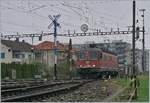
{"type": "Polygon", "coordinates": [[[48,26],[50,27],[54,25],[54,80],[57,80],[57,27],[60,27],[60,24],[57,23],[57,19],[60,17],[60,15],[54,15],[53,17],[51,15],[48,16],[53,22],[48,26]]]}

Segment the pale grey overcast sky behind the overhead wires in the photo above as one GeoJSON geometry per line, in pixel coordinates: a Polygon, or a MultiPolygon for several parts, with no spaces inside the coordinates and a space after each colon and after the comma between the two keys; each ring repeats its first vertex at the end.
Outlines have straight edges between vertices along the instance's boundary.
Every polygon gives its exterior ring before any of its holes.
{"type": "MultiPolygon", "coordinates": [[[[53,27],[48,29],[51,20],[48,15],[60,14],[58,22],[61,28],[58,33],[81,32],[80,26],[88,24],[90,30],[102,31],[127,30],[132,25],[132,0],[0,0],[0,32],[3,35],[23,33],[53,32],[53,27]]],[[[142,12],[145,11],[146,48],[150,49],[150,0],[136,0],[136,18],[142,26],[142,12]]],[[[125,36],[94,36],[72,38],[73,43],[85,41],[104,42],[105,39],[123,40],[131,43],[132,34],[125,36]]],[[[140,36],[140,39],[142,35],[140,36]]],[[[141,40],[137,46],[142,47],[141,40]]],[[[31,38],[25,38],[31,43],[31,38]]],[[[43,41],[53,41],[52,36],[43,37],[43,41]]],[[[58,37],[60,42],[69,42],[68,37],[58,37]]],[[[34,44],[39,43],[38,38],[34,44]]]]}

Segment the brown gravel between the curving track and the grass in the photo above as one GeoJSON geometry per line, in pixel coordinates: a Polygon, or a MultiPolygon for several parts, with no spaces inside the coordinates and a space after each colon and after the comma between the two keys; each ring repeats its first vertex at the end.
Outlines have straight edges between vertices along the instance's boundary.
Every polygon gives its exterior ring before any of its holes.
{"type": "Polygon", "coordinates": [[[97,80],[87,83],[79,89],[50,97],[48,102],[103,102],[113,93],[117,92],[121,87],[109,80],[97,80]]]}

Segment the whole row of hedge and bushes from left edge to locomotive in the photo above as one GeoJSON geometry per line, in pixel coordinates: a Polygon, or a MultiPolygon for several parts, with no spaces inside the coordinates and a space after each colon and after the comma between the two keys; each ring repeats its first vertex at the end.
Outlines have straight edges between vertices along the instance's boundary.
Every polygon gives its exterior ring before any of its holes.
{"type": "MultiPolygon", "coordinates": [[[[53,79],[53,65],[48,66],[44,63],[32,64],[5,64],[1,63],[1,78],[12,79],[12,69],[16,70],[16,79],[34,79],[35,75],[41,75],[42,78],[53,79]]],[[[76,69],[72,69],[72,77],[76,76],[76,69]]],[[[70,71],[67,60],[57,64],[58,79],[70,79],[70,71]]]]}

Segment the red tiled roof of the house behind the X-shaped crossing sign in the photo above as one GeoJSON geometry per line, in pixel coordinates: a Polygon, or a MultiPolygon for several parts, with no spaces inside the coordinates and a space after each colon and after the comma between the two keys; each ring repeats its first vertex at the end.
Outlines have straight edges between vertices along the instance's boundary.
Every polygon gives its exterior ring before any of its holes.
{"type": "MultiPolygon", "coordinates": [[[[59,50],[64,51],[66,47],[63,44],[58,43],[57,44],[57,48],[59,50]]],[[[34,49],[35,50],[53,50],[54,49],[54,42],[44,41],[44,42],[42,42],[42,43],[40,43],[38,45],[35,45],[34,49]]]]}

